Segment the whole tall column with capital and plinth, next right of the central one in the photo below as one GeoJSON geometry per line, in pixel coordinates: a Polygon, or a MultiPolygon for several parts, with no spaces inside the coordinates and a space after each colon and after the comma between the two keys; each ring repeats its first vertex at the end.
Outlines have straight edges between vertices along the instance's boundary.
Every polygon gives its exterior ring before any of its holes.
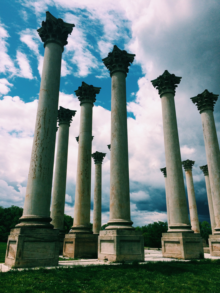
{"type": "Polygon", "coordinates": [[[168,233],[163,233],[162,237],[163,257],[190,259],[199,258],[200,253],[203,253],[203,247],[200,234],[192,234],[194,231],[189,225],[187,211],[174,101],[175,89],[181,78],[165,70],[162,75],[151,80],[151,82],[158,89],[162,103],[165,159],[169,187],[170,225],[168,233]]]}

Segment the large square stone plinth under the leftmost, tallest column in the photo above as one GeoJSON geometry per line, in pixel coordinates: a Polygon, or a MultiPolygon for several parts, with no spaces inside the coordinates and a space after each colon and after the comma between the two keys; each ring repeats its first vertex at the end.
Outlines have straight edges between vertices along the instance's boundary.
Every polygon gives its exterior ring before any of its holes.
{"type": "Polygon", "coordinates": [[[14,268],[56,266],[59,248],[59,229],[11,229],[5,265],[14,268]]]}

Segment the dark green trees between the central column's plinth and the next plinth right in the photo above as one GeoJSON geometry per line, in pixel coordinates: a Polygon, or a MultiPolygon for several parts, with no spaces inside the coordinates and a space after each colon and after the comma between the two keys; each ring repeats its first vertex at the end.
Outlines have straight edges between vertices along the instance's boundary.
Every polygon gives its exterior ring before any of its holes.
{"type": "Polygon", "coordinates": [[[136,231],[141,231],[144,236],[144,246],[152,248],[161,248],[161,237],[162,233],[167,233],[168,226],[167,222],[154,222],[147,226],[135,228],[136,231]]]}

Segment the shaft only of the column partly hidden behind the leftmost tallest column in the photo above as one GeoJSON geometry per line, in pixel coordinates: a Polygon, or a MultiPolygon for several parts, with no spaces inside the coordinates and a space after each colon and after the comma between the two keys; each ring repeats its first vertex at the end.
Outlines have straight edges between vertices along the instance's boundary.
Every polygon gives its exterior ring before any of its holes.
{"type": "Polygon", "coordinates": [[[52,218],[51,224],[54,228],[61,230],[63,230],[64,221],[69,128],[69,124],[59,123],[57,156],[50,214],[52,218]]]}

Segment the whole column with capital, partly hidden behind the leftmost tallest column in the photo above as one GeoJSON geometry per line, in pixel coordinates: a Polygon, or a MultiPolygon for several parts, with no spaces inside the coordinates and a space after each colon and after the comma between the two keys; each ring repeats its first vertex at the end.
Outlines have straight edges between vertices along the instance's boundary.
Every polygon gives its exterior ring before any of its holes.
{"type": "Polygon", "coordinates": [[[63,239],[65,231],[63,228],[66,179],[67,179],[67,155],[69,142],[69,128],[72,117],[76,111],[65,109],[60,106],[57,121],[59,122],[59,133],[57,143],[56,167],[53,184],[53,196],[50,217],[53,219],[51,224],[60,231],[60,254],[63,252],[63,239]]]}

